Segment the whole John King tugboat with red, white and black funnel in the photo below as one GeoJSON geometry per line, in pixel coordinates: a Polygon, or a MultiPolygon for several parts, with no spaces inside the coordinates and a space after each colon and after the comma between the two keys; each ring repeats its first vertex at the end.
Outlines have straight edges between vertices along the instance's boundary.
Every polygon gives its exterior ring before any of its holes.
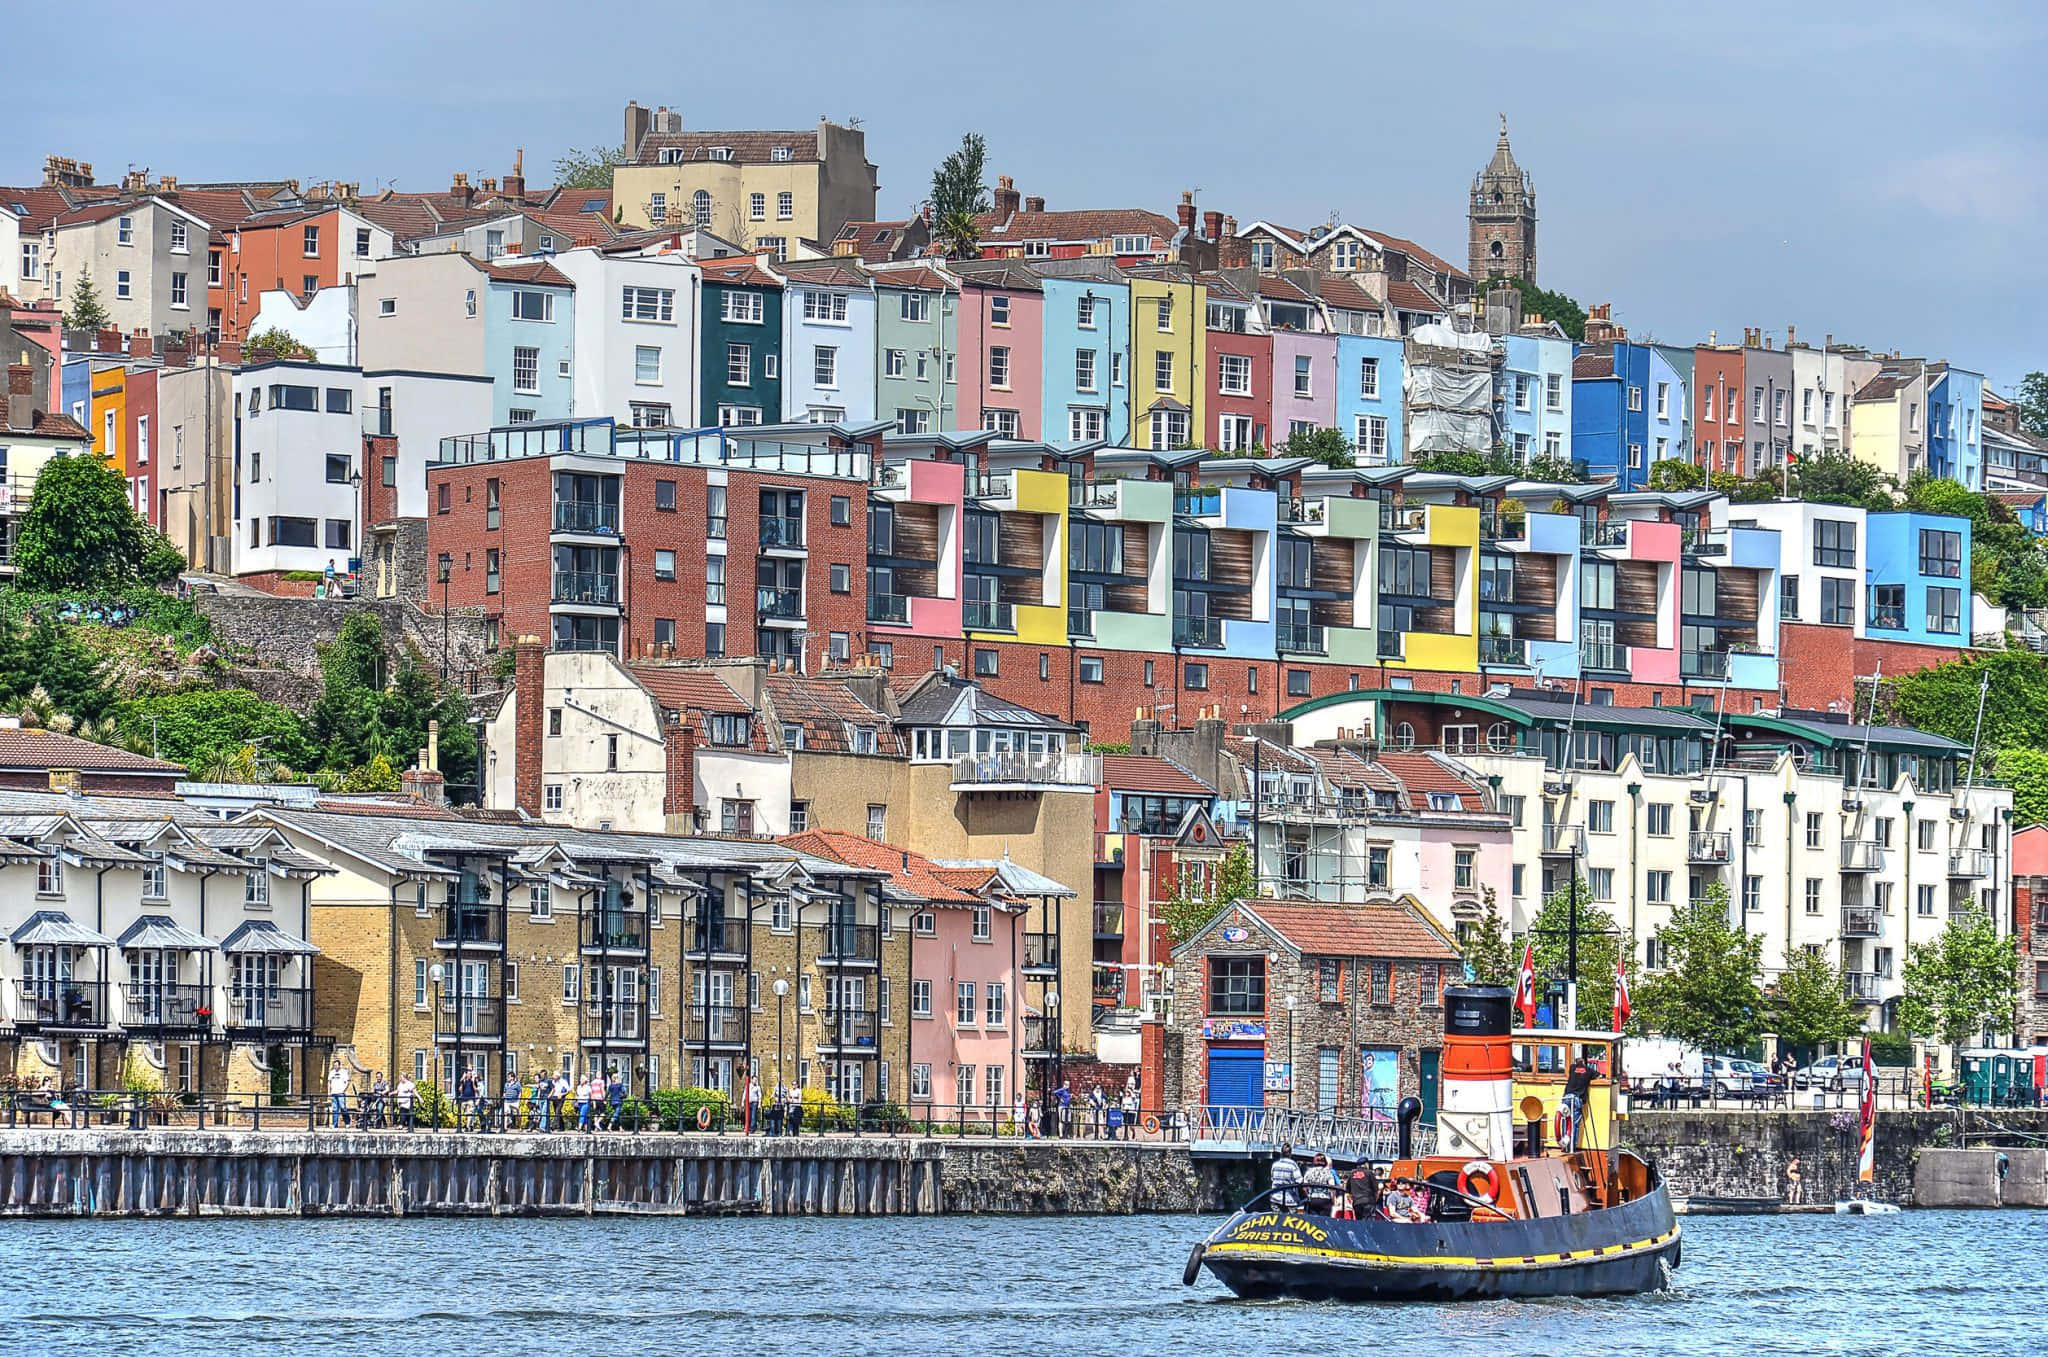
{"type": "MultiPolygon", "coordinates": [[[[1399,1152],[1356,1218],[1268,1189],[1194,1246],[1237,1296],[1491,1300],[1657,1292],[1679,1228],[1657,1165],[1612,1146],[1618,1034],[1511,1025],[1513,991],[1444,993],[1438,1152],[1413,1154],[1421,1103],[1399,1109],[1399,1152]],[[1520,1113],[1522,1126],[1516,1126],[1520,1113]],[[1544,1144],[1546,1122],[1554,1142],[1544,1144]],[[1579,1148],[1587,1144],[1591,1148],[1579,1148]]],[[[1339,1206],[1339,1212],[1343,1208],[1339,1206]]]]}

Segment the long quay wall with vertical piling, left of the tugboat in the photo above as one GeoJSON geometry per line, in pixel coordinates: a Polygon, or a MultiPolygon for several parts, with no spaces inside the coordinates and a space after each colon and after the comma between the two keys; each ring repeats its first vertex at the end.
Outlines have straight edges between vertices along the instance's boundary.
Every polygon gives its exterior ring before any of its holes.
{"type": "Polygon", "coordinates": [[[1251,1173],[1118,1142],[10,1130],[0,1216],[1139,1214],[1251,1173]]]}

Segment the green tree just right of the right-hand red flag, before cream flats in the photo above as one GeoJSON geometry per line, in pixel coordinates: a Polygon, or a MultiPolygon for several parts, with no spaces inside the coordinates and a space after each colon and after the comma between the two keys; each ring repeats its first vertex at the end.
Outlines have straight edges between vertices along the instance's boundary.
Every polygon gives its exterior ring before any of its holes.
{"type": "Polygon", "coordinates": [[[1651,1032],[1708,1052],[1741,1050],[1763,1034],[1763,937],[1729,923],[1720,882],[1671,911],[1657,929],[1665,970],[1636,993],[1651,1032]]]}

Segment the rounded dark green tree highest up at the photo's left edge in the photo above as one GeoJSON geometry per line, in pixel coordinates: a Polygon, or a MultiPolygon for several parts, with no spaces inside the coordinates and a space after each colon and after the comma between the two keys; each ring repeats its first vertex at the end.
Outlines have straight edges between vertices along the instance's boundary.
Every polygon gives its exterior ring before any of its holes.
{"type": "Polygon", "coordinates": [[[51,458],[20,520],[16,583],[39,594],[119,589],[141,579],[145,563],[158,569],[160,538],[135,514],[127,481],[106,458],[51,458]]]}

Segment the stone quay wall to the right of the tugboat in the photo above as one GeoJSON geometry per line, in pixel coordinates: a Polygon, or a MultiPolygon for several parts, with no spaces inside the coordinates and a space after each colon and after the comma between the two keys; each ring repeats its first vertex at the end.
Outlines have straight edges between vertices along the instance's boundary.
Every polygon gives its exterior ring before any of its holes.
{"type": "MultiPolygon", "coordinates": [[[[1855,1107],[1831,1111],[1636,1109],[1622,1124],[1622,1144],[1653,1158],[1673,1193],[1688,1197],[1786,1199],[1786,1165],[1800,1161],[1806,1206],[1837,1201],[1855,1187],[1855,1107]]],[[[1970,1109],[1878,1111],[1876,1197],[1915,1199],[1923,1152],[1962,1146],[2023,1146],[2048,1134],[2048,1111],[1970,1109]]],[[[2038,1140],[2034,1144],[2040,1144],[2038,1140]]],[[[1993,1206],[1993,1201],[1985,1201],[1993,1206]]]]}

